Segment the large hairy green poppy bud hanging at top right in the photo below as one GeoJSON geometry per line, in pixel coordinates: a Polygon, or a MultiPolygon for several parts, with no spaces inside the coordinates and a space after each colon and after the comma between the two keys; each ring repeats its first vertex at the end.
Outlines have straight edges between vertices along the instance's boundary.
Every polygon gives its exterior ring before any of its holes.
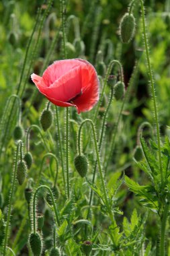
{"type": "Polygon", "coordinates": [[[134,37],[135,19],[131,13],[125,13],[120,22],[120,38],[122,42],[128,43],[134,37]]]}

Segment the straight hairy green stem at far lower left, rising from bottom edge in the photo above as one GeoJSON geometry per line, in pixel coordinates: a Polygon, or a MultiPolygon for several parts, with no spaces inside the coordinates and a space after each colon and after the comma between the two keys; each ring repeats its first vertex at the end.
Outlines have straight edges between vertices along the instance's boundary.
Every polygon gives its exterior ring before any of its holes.
{"type": "Polygon", "coordinates": [[[16,179],[16,173],[17,173],[17,159],[19,156],[19,148],[22,147],[22,141],[19,141],[17,143],[17,151],[16,151],[16,156],[15,156],[15,166],[14,166],[14,173],[13,173],[13,180],[11,184],[11,191],[10,191],[10,196],[9,196],[9,208],[7,212],[7,222],[5,226],[5,239],[4,239],[4,245],[3,245],[3,256],[6,255],[6,249],[7,249],[7,238],[8,238],[8,232],[9,232],[9,222],[10,222],[10,216],[11,216],[11,203],[12,203],[12,197],[14,193],[14,188],[15,188],[15,179],[16,179]]]}

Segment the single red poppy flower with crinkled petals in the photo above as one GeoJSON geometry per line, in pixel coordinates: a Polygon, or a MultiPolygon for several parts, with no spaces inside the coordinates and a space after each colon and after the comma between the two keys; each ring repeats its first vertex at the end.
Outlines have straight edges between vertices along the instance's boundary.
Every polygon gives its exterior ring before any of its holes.
{"type": "Polygon", "coordinates": [[[38,90],[56,106],[91,110],[99,100],[99,79],[93,65],[83,59],[55,61],[42,77],[32,74],[38,90]]]}

